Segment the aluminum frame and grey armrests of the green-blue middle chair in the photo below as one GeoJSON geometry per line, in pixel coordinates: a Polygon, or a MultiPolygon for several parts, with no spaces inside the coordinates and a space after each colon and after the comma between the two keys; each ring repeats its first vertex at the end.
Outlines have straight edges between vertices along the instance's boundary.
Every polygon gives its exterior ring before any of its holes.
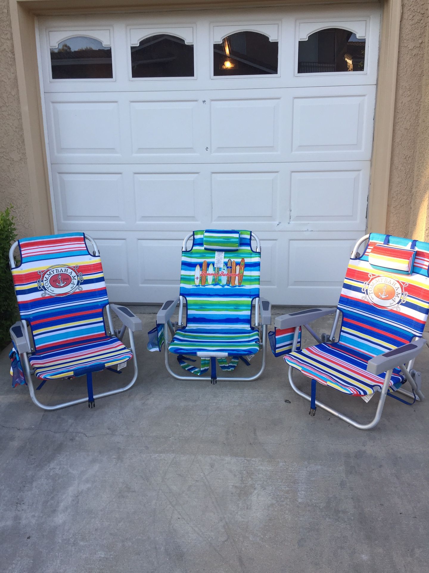
{"type": "MultiPolygon", "coordinates": [[[[186,250],[186,244],[188,243],[189,239],[193,237],[193,233],[189,233],[186,235],[183,244],[182,244],[182,252],[186,250]]],[[[255,238],[256,241],[256,252],[261,252],[261,242],[259,237],[255,235],[252,231],[252,238],[255,238]]],[[[184,376],[180,374],[176,374],[173,372],[170,362],[169,362],[169,355],[170,352],[168,350],[168,333],[170,332],[172,337],[175,334],[175,330],[173,327],[173,323],[171,321],[171,317],[174,313],[174,310],[179,305],[178,310],[178,326],[184,327],[183,324],[183,305],[184,305],[184,297],[179,296],[176,300],[166,301],[161,307],[161,310],[158,311],[157,314],[157,323],[164,325],[164,362],[165,367],[169,374],[176,378],[177,380],[195,380],[195,376],[184,376]]],[[[259,372],[253,376],[217,376],[217,380],[237,380],[239,382],[245,381],[252,381],[259,378],[267,364],[267,344],[268,344],[268,326],[271,324],[271,303],[268,300],[264,299],[263,297],[259,297],[255,301],[255,323],[253,326],[255,328],[259,328],[262,331],[262,364],[260,367],[259,372]],[[260,318],[261,317],[261,320],[260,318]],[[261,328],[260,328],[261,327],[261,328]]],[[[199,358],[226,358],[228,354],[226,352],[198,352],[197,356],[199,358]]],[[[210,376],[198,376],[200,380],[212,380],[210,376]]]]}

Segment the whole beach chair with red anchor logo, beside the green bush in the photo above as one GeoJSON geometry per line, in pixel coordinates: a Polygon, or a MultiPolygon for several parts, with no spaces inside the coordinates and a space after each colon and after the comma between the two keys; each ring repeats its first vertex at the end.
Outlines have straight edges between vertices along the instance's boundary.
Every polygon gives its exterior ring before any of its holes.
{"type": "Polygon", "coordinates": [[[132,387],[138,374],[133,333],[141,330],[141,321],[128,308],[109,304],[96,242],[84,233],[21,239],[11,246],[9,261],[21,315],[10,334],[33,402],[45,410],[57,410],[87,399],[43,405],[35,397],[33,374],[41,380],[38,388],[46,380],[86,375],[89,407],[95,406],[94,398],[132,387]],[[18,262],[14,258],[17,248],[18,262]],[[117,336],[110,311],[122,321],[117,336]],[[126,328],[130,348],[122,343],[126,328]],[[92,373],[105,368],[121,372],[130,359],[134,365],[131,382],[94,396],[92,373]]]}

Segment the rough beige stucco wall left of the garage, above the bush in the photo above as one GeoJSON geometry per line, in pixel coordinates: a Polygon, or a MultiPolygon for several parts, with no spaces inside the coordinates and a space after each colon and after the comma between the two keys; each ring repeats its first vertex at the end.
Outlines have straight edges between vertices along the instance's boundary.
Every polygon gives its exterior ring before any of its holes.
{"type": "Polygon", "coordinates": [[[34,233],[9,2],[0,0],[0,209],[12,204],[20,236],[34,233]]]}

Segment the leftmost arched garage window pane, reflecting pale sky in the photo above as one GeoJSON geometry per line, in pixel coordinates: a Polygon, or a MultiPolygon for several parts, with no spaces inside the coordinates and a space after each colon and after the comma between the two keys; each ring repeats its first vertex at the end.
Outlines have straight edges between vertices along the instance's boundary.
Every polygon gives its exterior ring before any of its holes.
{"type": "Polygon", "coordinates": [[[74,36],[51,48],[53,80],[112,78],[112,48],[88,36],[74,36]]]}

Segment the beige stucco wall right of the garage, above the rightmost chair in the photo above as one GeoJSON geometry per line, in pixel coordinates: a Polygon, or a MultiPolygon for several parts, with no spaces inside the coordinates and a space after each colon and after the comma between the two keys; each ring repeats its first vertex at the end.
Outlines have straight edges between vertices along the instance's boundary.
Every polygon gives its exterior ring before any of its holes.
{"type": "Polygon", "coordinates": [[[403,0],[387,231],[429,240],[429,3],[403,0]]]}

